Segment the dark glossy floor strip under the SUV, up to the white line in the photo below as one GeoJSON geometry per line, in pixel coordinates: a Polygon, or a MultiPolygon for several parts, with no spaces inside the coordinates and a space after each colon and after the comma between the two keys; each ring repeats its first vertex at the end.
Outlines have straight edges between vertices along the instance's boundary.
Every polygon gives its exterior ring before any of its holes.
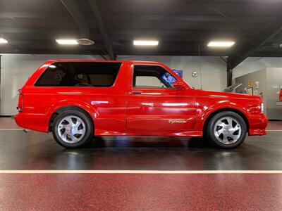
{"type": "Polygon", "coordinates": [[[219,150],[203,139],[106,137],[66,149],[39,132],[0,131],[0,170],[282,170],[282,132],[219,150]]]}

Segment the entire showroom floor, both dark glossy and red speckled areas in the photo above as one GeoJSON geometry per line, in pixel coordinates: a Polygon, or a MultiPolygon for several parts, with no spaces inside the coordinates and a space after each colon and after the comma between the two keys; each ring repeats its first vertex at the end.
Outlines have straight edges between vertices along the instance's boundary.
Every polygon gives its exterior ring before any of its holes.
{"type": "Polygon", "coordinates": [[[233,150],[211,148],[203,139],[166,137],[99,138],[70,150],[51,134],[26,134],[11,120],[1,122],[6,123],[0,130],[1,210],[282,209],[282,122],[233,150]],[[155,170],[160,172],[150,172],[155,170]],[[204,172],[195,174],[199,170],[204,172]],[[239,172],[217,172],[222,170],[239,172]]]}

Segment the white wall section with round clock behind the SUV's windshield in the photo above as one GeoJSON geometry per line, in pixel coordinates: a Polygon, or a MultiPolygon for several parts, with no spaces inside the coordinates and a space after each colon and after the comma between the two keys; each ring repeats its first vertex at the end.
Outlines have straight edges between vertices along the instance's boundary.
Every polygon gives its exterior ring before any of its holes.
{"type": "Polygon", "coordinates": [[[164,63],[171,69],[183,70],[183,79],[191,87],[223,91],[226,88],[226,63],[212,56],[118,56],[118,60],[149,60],[164,63]],[[201,70],[201,71],[200,71],[201,70]],[[192,77],[192,72],[198,77],[192,77]]]}

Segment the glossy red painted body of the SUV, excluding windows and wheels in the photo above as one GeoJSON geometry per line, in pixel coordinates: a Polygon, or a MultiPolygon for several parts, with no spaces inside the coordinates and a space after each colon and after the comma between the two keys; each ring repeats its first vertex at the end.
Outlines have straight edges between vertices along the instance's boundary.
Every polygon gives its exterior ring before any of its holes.
{"type": "Polygon", "coordinates": [[[95,136],[202,136],[209,115],[236,110],[245,118],[249,135],[264,135],[268,122],[262,98],[244,94],[192,89],[166,65],[141,61],[122,63],[112,87],[36,87],[35,82],[54,62],[109,62],[105,60],[49,60],[21,89],[15,120],[20,127],[49,132],[51,116],[59,108],[78,106],[90,114],[95,136]],[[183,89],[133,88],[133,65],[159,65],[183,89]],[[141,91],[141,94],[133,94],[141,91]]]}

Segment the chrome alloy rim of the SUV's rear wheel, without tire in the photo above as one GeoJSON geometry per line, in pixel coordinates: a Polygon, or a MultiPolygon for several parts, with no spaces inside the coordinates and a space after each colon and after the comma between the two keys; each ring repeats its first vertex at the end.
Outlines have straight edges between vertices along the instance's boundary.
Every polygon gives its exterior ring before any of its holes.
{"type": "Polygon", "coordinates": [[[85,135],[85,123],[80,117],[66,116],[58,124],[58,134],[67,143],[77,143],[85,135]]]}

